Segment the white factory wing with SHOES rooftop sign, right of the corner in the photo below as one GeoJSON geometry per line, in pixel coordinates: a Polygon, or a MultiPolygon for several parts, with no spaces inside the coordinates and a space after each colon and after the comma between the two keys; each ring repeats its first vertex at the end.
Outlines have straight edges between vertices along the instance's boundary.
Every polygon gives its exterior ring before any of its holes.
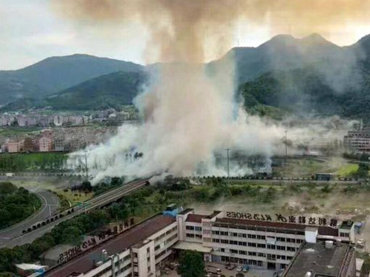
{"type": "MultiPolygon", "coordinates": [[[[309,236],[317,239],[340,239],[354,242],[353,222],[327,226],[326,219],[282,215],[253,215],[250,213],[214,212],[212,215],[196,215],[191,209],[178,215],[179,240],[199,243],[211,250],[205,260],[216,263],[248,264],[260,269],[284,269],[309,236]],[[272,218],[276,217],[276,221],[272,218]],[[306,223],[299,224],[305,219],[306,223]],[[311,220],[311,222],[310,222],[311,220]],[[297,223],[289,223],[295,221],[297,223]]],[[[196,247],[196,246],[194,246],[196,247]]],[[[176,246],[175,246],[176,248],[176,246]]],[[[182,249],[181,243],[179,249],[182,249]]]]}

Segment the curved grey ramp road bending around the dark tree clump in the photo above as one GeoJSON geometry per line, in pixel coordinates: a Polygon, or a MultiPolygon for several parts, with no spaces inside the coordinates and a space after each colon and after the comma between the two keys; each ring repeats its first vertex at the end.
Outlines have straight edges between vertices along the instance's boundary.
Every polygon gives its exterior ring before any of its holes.
{"type": "Polygon", "coordinates": [[[57,196],[49,191],[36,191],[32,189],[28,190],[38,196],[41,201],[41,208],[23,221],[6,229],[0,230],[0,245],[5,244],[16,236],[21,235],[23,230],[57,212],[59,205],[59,199],[57,196]]]}

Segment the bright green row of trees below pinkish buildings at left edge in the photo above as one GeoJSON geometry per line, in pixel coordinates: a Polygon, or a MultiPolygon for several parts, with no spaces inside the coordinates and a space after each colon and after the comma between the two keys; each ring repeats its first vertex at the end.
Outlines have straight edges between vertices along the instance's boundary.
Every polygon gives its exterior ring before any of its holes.
{"type": "Polygon", "coordinates": [[[65,170],[67,158],[63,153],[1,154],[0,171],[65,170]]]}

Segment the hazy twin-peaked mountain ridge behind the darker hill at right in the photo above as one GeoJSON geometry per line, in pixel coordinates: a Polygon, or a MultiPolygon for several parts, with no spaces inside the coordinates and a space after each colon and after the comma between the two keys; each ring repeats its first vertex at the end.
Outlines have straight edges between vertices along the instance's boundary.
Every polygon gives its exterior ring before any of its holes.
{"type": "Polygon", "coordinates": [[[236,81],[240,84],[269,71],[305,66],[332,70],[343,64],[352,65],[357,62],[360,52],[355,48],[356,44],[353,47],[339,47],[318,34],[302,39],[291,35],[277,35],[258,47],[233,48],[221,59],[209,63],[208,67],[212,72],[223,68],[220,64],[227,61],[235,64],[236,81]]]}

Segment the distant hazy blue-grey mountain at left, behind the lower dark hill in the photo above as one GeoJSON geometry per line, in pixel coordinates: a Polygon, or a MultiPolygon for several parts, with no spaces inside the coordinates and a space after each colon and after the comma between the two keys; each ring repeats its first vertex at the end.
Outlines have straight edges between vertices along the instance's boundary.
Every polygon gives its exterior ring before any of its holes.
{"type": "Polygon", "coordinates": [[[0,71],[0,105],[17,98],[37,98],[112,72],[138,72],[132,62],[75,54],[51,57],[23,69],[0,71]]]}

